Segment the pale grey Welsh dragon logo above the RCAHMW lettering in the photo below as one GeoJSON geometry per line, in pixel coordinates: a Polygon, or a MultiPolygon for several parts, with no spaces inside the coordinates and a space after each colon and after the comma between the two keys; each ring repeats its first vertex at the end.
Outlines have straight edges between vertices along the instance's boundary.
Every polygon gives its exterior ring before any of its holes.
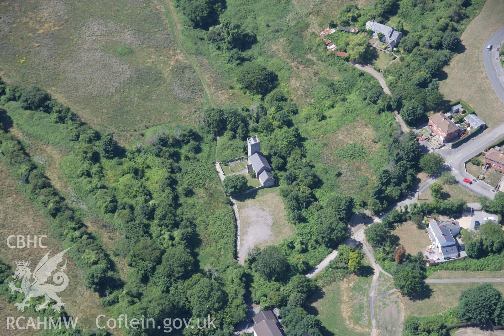
{"type": "Polygon", "coordinates": [[[60,311],[61,307],[65,307],[65,303],[61,302],[61,299],[56,295],[57,292],[64,291],[68,286],[68,276],[63,272],[67,271],[67,259],[65,258],[65,265],[63,265],[59,272],[54,273],[52,276],[52,281],[59,286],[53,284],[46,284],[47,278],[51,276],[53,271],[56,271],[58,268],[58,264],[63,262],[63,255],[70,248],[67,248],[64,251],[59,252],[49,259],[49,253],[52,248],[47,252],[44,257],[39,261],[37,267],[35,267],[35,271],[33,272],[33,276],[30,268],[30,261],[16,261],[16,272],[12,276],[15,281],[21,280],[21,287],[18,288],[14,284],[14,281],[9,282],[9,287],[11,288],[11,293],[14,294],[16,292],[22,292],[25,294],[25,298],[21,303],[14,303],[18,310],[25,311],[25,307],[30,306],[30,298],[35,298],[39,296],[44,296],[45,302],[43,304],[38,304],[35,306],[35,310],[41,310],[48,308],[48,303],[50,299],[56,301],[56,304],[52,305],[51,308],[54,311],[60,311]],[[33,282],[31,282],[33,278],[33,282]]]}

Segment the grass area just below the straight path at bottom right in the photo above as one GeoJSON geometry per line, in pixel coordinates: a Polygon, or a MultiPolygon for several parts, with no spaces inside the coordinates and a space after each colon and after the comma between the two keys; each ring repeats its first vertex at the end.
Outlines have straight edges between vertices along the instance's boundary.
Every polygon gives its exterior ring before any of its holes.
{"type": "MultiPolygon", "coordinates": [[[[459,303],[460,293],[468,288],[478,286],[478,283],[460,284],[429,284],[430,296],[423,300],[411,301],[401,297],[405,306],[406,316],[428,316],[439,314],[459,303]]],[[[504,284],[492,284],[501,293],[504,293],[504,284]]]]}

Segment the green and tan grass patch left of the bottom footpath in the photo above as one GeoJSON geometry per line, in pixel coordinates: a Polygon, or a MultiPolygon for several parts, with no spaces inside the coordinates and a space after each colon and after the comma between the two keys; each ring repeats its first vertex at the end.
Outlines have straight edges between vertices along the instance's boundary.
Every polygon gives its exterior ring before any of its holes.
{"type": "Polygon", "coordinates": [[[369,335],[370,328],[368,324],[362,326],[356,323],[358,320],[369,320],[369,306],[367,305],[367,293],[369,290],[367,285],[362,288],[362,292],[357,294],[355,299],[360,299],[361,305],[353,304],[352,295],[355,294],[351,290],[352,285],[358,284],[361,288],[363,283],[371,282],[372,275],[367,278],[357,279],[351,275],[340,282],[334,282],[329,286],[324,287],[322,297],[314,298],[314,302],[307,311],[317,315],[322,325],[327,329],[324,336],[364,336],[369,335]],[[361,307],[362,306],[362,307],[361,307]],[[365,309],[367,308],[367,310],[365,309]]]}

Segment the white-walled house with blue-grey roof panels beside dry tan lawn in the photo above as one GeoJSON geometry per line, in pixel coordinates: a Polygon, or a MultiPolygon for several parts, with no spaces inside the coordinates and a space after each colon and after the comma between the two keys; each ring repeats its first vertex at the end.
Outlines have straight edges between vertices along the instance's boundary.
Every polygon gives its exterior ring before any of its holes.
{"type": "Polygon", "coordinates": [[[454,222],[455,221],[449,221],[445,224],[437,219],[433,219],[429,222],[429,227],[427,229],[429,237],[443,259],[459,257],[458,243],[454,236],[460,232],[460,226],[458,222],[455,222],[456,224],[454,222]],[[459,226],[458,232],[456,230],[457,226],[459,226]],[[455,234],[455,232],[457,233],[455,234]]]}

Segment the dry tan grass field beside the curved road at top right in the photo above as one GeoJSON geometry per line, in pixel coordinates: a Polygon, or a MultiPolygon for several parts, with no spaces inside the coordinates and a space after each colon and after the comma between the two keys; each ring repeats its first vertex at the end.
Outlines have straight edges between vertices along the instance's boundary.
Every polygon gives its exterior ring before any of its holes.
{"type": "Polygon", "coordinates": [[[477,111],[488,127],[494,127],[504,121],[504,105],[488,80],[481,49],[486,40],[502,28],[502,12],[504,2],[486,2],[481,13],[462,34],[461,51],[464,52],[456,55],[445,67],[444,71],[448,77],[439,83],[439,90],[445,95],[445,99],[462,98],[477,111]]]}

